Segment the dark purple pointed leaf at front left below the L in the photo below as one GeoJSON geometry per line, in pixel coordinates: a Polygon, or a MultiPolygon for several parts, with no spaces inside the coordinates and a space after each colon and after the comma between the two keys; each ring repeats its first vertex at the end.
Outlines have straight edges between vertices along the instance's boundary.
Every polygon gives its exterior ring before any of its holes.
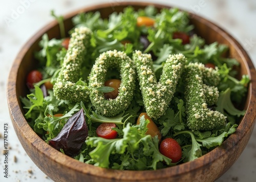
{"type": "Polygon", "coordinates": [[[60,133],[49,141],[49,145],[73,157],[79,153],[79,150],[88,137],[88,128],[86,119],[83,115],[83,109],[69,118],[63,126],[60,133]]]}

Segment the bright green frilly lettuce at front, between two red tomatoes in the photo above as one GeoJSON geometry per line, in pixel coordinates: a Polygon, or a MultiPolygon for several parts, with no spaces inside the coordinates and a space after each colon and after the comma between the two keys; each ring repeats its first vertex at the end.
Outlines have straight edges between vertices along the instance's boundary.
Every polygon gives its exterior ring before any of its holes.
{"type": "Polygon", "coordinates": [[[145,134],[148,123],[149,120],[145,120],[144,116],[141,117],[138,125],[127,123],[122,129],[122,138],[118,139],[88,137],[86,144],[95,147],[89,152],[90,163],[94,163],[95,166],[110,168],[110,159],[117,154],[119,158],[125,160],[125,164],[122,162],[121,165],[117,165],[118,163],[115,162],[115,165],[113,164],[115,169],[133,170],[137,165],[141,166],[145,162],[146,164],[143,165],[143,168],[140,167],[141,170],[157,169],[157,163],[162,161],[170,165],[172,160],[159,152],[158,138],[152,138],[150,135],[145,134]],[[144,161],[143,155],[137,154],[138,151],[143,152],[144,156],[147,157],[147,161],[144,161]]]}

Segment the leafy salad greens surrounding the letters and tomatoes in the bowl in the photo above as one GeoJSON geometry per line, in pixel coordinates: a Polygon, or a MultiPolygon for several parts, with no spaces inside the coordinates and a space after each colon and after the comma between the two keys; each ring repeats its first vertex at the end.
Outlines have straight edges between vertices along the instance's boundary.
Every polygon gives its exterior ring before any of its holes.
{"type": "MultiPolygon", "coordinates": [[[[212,111],[219,111],[227,119],[226,123],[211,131],[191,131],[187,125],[186,99],[184,95],[184,80],[180,79],[166,111],[154,122],[161,131],[162,138],[175,139],[182,148],[182,159],[178,163],[159,152],[159,140],[146,134],[148,119],[141,117],[140,123],[136,120],[140,113],[145,112],[144,103],[139,89],[139,82],[135,81],[135,91],[129,107],[114,117],[106,117],[97,112],[91,101],[72,102],[57,99],[52,89],[47,90],[47,96],[40,87],[51,81],[56,83],[58,73],[63,63],[67,49],[62,46],[63,22],[57,17],[61,39],[49,40],[48,35],[42,36],[39,45],[41,50],[35,53],[39,61],[38,70],[43,75],[43,80],[30,89],[27,97],[20,97],[26,111],[25,117],[34,131],[47,143],[54,139],[66,124],[68,119],[83,110],[88,127],[88,138],[82,143],[75,159],[104,168],[120,170],[146,170],[160,169],[200,158],[211,151],[232,133],[245,114],[240,109],[243,98],[246,96],[248,75],[243,75],[241,80],[236,78],[239,62],[233,58],[222,57],[228,47],[217,42],[209,45],[194,32],[194,26],[189,24],[189,16],[178,9],[162,9],[160,13],[152,7],[135,11],[127,7],[123,12],[114,12],[109,19],[100,17],[99,12],[80,13],[73,18],[74,28],[87,27],[92,31],[89,40],[86,61],[81,63],[80,79],[76,84],[87,85],[89,73],[96,58],[107,50],[124,51],[130,58],[135,50],[149,53],[153,58],[153,67],[157,79],[162,74],[166,59],[170,54],[183,54],[188,63],[211,63],[217,66],[220,75],[218,90],[220,91],[216,105],[211,106],[212,111]],[[147,16],[155,20],[154,27],[137,26],[137,17],[147,16]],[[189,43],[183,44],[182,39],[174,39],[175,32],[189,35],[189,43]],[[142,42],[146,40],[145,42],[142,42]],[[55,116],[60,113],[62,116],[55,116]],[[97,137],[96,128],[100,123],[113,122],[117,133],[116,139],[97,137]]],[[[120,79],[118,70],[113,69],[106,75],[106,79],[120,79]]],[[[185,74],[184,74],[185,75],[185,74]]],[[[108,87],[99,88],[100,92],[112,91],[108,87]]],[[[63,149],[60,151],[64,152],[63,149]]],[[[64,152],[65,153],[65,152],[64,152]]]]}

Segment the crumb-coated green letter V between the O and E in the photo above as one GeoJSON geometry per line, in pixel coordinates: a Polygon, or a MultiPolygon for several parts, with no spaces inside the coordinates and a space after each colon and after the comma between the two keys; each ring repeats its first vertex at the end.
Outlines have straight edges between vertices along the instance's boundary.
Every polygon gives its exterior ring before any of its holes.
{"type": "Polygon", "coordinates": [[[140,90],[144,107],[149,117],[158,119],[167,109],[176,90],[186,58],[183,54],[169,55],[163,66],[163,72],[157,82],[150,54],[136,50],[133,54],[136,63],[140,90]]]}

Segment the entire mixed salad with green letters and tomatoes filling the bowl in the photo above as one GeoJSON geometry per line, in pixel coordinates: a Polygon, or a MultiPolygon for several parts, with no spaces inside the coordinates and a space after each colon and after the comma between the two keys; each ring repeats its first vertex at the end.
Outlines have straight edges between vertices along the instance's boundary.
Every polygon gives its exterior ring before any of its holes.
{"type": "Polygon", "coordinates": [[[205,44],[186,12],[80,13],[67,37],[52,15],[62,38],[42,36],[20,99],[55,149],[103,168],[156,170],[196,160],[236,132],[249,77],[236,78],[228,47],[205,44]]]}

